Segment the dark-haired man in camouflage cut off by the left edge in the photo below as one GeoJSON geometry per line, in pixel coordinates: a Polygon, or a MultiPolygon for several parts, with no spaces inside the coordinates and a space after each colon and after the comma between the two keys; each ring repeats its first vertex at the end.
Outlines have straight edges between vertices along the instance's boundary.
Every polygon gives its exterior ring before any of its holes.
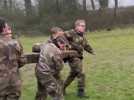
{"type": "Polygon", "coordinates": [[[0,100],[19,100],[21,95],[19,58],[22,53],[21,44],[12,39],[11,28],[0,18],[0,100]]]}

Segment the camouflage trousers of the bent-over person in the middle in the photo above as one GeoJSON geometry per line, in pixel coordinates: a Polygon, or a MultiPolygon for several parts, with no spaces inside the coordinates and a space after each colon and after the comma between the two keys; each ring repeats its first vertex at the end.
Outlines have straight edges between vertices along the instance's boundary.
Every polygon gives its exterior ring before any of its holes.
{"type": "Polygon", "coordinates": [[[64,100],[63,82],[59,74],[42,73],[36,71],[38,91],[35,100],[46,100],[49,95],[52,100],[64,100]]]}

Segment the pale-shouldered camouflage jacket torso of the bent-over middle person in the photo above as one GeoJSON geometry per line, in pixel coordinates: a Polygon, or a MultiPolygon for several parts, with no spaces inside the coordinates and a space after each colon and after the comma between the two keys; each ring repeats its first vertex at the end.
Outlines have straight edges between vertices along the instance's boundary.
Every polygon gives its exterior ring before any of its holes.
{"type": "Polygon", "coordinates": [[[58,73],[63,68],[61,51],[53,43],[44,43],[40,47],[37,70],[42,73],[58,73]]]}

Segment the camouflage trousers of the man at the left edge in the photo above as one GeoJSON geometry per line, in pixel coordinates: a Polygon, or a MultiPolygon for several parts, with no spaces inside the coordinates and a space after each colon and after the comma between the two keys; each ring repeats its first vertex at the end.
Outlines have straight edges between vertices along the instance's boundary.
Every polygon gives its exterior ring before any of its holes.
{"type": "Polygon", "coordinates": [[[19,100],[21,80],[18,74],[0,76],[0,100],[19,100]]]}

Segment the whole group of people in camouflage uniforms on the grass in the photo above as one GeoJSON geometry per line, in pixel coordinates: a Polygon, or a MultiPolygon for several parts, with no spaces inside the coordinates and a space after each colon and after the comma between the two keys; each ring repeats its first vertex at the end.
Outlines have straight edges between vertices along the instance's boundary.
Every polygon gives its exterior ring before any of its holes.
{"type": "MultiPolygon", "coordinates": [[[[85,30],[85,20],[78,19],[74,29],[64,31],[60,27],[52,27],[47,42],[33,45],[33,52],[39,54],[35,67],[38,88],[35,100],[46,100],[47,95],[52,100],[64,100],[66,88],[75,78],[78,78],[77,96],[86,97],[83,50],[93,55],[94,51],[85,38],[85,30]],[[64,63],[69,64],[70,72],[62,80],[60,72],[64,63]]],[[[19,68],[27,64],[27,60],[20,42],[12,38],[8,23],[0,19],[0,100],[19,100],[19,68]]]]}

